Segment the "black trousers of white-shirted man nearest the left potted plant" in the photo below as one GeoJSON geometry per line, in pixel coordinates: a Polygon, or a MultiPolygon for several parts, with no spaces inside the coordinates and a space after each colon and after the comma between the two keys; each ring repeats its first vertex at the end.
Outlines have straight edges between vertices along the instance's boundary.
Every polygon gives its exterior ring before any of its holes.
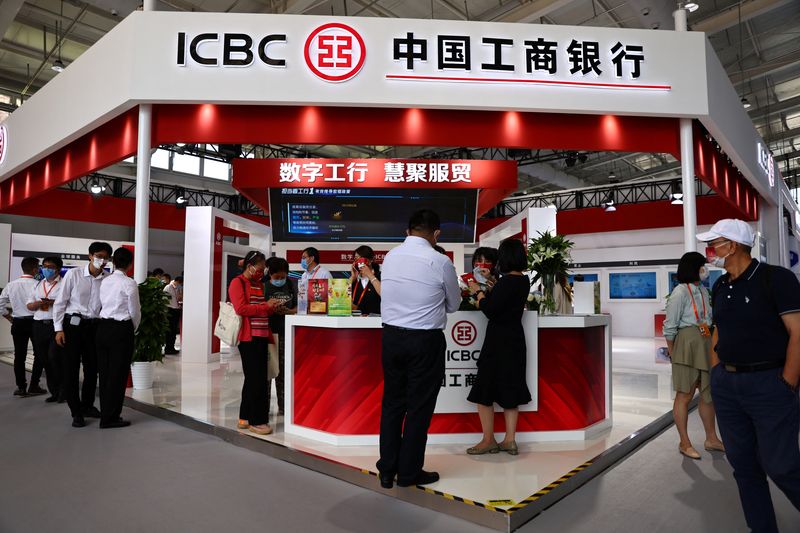
{"type": "Polygon", "coordinates": [[[97,369],[100,374],[100,423],[122,414],[125,387],[133,359],[133,322],[104,319],[97,325],[97,369]]]}

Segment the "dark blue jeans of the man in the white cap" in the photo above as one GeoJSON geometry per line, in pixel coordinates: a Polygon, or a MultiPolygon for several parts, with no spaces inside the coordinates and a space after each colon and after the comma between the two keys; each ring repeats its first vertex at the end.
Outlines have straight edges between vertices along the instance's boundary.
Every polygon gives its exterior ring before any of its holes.
{"type": "Polygon", "coordinates": [[[782,369],[711,369],[711,396],[747,525],[778,531],[767,476],[800,510],[800,400],[780,380],[782,369]]]}

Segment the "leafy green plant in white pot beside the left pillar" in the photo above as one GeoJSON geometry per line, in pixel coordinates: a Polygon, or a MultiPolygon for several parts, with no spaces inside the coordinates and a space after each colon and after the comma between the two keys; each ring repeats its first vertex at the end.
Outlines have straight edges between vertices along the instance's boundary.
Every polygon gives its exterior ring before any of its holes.
{"type": "Polygon", "coordinates": [[[136,330],[131,374],[134,389],[153,388],[153,363],[162,362],[161,351],[167,338],[169,296],[156,278],[147,278],[139,284],[139,303],[142,320],[136,330]]]}

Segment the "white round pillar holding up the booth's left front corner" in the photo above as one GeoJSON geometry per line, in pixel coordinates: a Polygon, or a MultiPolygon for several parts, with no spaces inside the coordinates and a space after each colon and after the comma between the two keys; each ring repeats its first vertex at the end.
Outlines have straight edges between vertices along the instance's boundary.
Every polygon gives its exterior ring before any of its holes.
{"type": "Polygon", "coordinates": [[[139,105],[139,138],[136,151],[136,222],[133,237],[134,279],[147,278],[147,250],[150,231],[150,134],[153,106],[139,105]]]}

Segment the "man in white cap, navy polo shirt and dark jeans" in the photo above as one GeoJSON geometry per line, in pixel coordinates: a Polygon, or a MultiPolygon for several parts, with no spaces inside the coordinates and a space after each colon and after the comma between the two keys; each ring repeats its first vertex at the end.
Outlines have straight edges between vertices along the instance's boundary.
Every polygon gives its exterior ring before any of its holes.
{"type": "Polygon", "coordinates": [[[747,525],[777,532],[767,476],[800,510],[800,283],[750,256],[741,220],[697,235],[724,268],[712,290],[711,396],[747,525]]]}

